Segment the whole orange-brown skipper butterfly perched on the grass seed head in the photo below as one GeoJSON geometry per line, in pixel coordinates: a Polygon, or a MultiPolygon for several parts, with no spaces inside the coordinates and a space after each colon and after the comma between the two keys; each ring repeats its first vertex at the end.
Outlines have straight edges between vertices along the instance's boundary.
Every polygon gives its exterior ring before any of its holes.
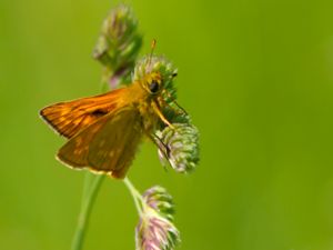
{"type": "Polygon", "coordinates": [[[155,142],[160,121],[172,128],[161,110],[168,106],[165,84],[175,76],[151,71],[128,87],[42,109],[41,117],[69,139],[58,159],[75,169],[124,178],[143,134],[155,142]]]}

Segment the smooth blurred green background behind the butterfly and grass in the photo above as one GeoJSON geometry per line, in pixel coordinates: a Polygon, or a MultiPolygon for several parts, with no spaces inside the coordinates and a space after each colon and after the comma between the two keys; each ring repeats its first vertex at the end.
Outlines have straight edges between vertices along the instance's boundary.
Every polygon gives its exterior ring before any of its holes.
{"type": "MultiPolygon", "coordinates": [[[[174,197],[183,250],[333,249],[333,3],[330,0],[125,1],[179,68],[179,102],[201,132],[201,164],[165,172],[144,143],[141,190],[174,197]]],[[[83,172],[42,107],[99,93],[92,57],[114,1],[0,1],[0,249],[69,249],[83,172]]],[[[98,197],[85,248],[134,249],[138,216],[121,181],[98,197]]]]}

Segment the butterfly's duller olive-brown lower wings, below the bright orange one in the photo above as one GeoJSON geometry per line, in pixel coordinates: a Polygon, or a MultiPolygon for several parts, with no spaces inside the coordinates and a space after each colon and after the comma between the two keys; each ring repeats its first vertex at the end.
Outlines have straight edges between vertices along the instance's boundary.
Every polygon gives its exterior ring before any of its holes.
{"type": "Polygon", "coordinates": [[[59,160],[124,178],[142,138],[139,111],[127,107],[107,114],[73,136],[58,153],[59,160]]]}

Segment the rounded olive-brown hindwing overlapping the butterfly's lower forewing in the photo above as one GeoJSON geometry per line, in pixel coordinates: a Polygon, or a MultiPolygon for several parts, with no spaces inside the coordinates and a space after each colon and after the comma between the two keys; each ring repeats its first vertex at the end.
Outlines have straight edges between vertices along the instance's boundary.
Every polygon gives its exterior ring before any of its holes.
{"type": "Polygon", "coordinates": [[[142,138],[140,113],[134,108],[120,110],[90,143],[88,162],[112,177],[123,178],[142,138]]]}

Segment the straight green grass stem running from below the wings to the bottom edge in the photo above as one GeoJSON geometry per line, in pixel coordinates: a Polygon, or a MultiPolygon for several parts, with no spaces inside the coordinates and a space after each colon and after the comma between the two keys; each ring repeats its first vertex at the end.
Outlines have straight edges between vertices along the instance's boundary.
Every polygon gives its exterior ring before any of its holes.
{"type": "MultiPolygon", "coordinates": [[[[92,174],[92,173],[87,173],[87,174],[92,174]]],[[[85,176],[84,184],[83,184],[83,199],[81,204],[81,211],[80,211],[74,238],[72,241],[71,250],[82,249],[84,236],[88,230],[88,223],[89,223],[91,210],[104,178],[105,176],[101,174],[101,176],[93,177],[93,179],[91,180],[89,176],[85,176]]]]}

